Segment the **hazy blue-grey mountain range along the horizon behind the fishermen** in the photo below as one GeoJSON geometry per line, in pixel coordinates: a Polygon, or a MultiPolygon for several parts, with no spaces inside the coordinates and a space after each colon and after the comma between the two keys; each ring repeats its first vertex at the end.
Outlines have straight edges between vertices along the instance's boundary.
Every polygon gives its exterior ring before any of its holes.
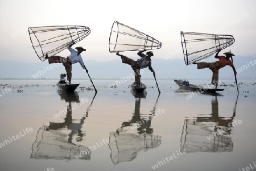
{"type": "MultiPolygon", "coordinates": [[[[138,57],[133,57],[138,59],[138,57]]],[[[253,56],[234,56],[234,66],[237,70],[237,79],[255,78],[256,74],[256,55],[253,56]]],[[[207,62],[216,61],[210,57],[207,62]]],[[[127,64],[122,64],[121,59],[99,62],[96,60],[84,60],[86,68],[89,70],[91,78],[94,79],[119,79],[131,77],[133,70],[127,64]]],[[[152,57],[152,68],[155,70],[158,79],[189,79],[189,78],[211,78],[212,71],[209,69],[197,69],[196,65],[185,65],[182,59],[154,59],[152,57]]],[[[60,73],[65,73],[62,64],[48,64],[48,61],[28,63],[18,61],[0,62],[0,79],[58,79],[60,73]]],[[[143,79],[154,79],[148,68],[141,71],[143,79]]],[[[220,78],[234,78],[231,67],[221,68],[220,78]]],[[[89,79],[88,74],[83,70],[79,63],[72,65],[73,79],[89,79]]]]}

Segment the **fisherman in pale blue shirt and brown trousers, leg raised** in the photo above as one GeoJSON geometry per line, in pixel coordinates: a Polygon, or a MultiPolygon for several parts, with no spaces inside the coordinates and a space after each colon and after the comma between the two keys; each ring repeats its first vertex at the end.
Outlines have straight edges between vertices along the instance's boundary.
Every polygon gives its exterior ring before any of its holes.
{"type": "Polygon", "coordinates": [[[69,52],[71,52],[71,55],[69,55],[67,58],[61,57],[61,56],[49,56],[46,54],[46,57],[44,59],[48,59],[49,64],[52,63],[62,63],[65,67],[65,70],[67,72],[67,80],[69,81],[69,84],[71,84],[71,78],[72,78],[72,64],[76,64],[77,62],[80,63],[83,69],[86,70],[86,73],[88,73],[88,69],[85,68],[84,61],[82,60],[81,53],[86,51],[86,49],[82,47],[76,47],[77,51],[75,49],[71,48],[73,44],[70,44],[68,46],[69,52]]]}

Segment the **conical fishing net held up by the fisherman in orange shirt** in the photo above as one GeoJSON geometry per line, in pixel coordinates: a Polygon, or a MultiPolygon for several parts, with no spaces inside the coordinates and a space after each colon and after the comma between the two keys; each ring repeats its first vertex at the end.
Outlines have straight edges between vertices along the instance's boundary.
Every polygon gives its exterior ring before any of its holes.
{"type": "Polygon", "coordinates": [[[232,35],[214,35],[196,32],[180,32],[185,64],[200,61],[234,43],[232,35]]]}

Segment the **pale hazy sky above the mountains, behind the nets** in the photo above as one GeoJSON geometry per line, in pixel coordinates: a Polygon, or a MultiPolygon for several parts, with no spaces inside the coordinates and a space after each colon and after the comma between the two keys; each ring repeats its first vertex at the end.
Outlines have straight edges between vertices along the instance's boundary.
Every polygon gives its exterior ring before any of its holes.
{"type": "MultiPolygon", "coordinates": [[[[28,27],[87,26],[91,33],[77,46],[86,48],[84,60],[117,59],[109,52],[114,20],[162,42],[155,57],[183,59],[180,31],[228,34],[236,39],[235,55],[255,55],[255,0],[210,1],[35,1],[1,0],[0,60],[39,62],[28,27]]],[[[123,52],[137,56],[136,52],[123,52]]],[[[69,51],[60,53],[68,56],[69,51]]]]}

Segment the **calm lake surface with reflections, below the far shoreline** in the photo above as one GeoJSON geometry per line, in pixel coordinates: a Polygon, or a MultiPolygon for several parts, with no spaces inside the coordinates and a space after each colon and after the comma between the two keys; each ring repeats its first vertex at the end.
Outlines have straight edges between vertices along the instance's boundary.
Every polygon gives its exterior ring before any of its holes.
{"type": "Polygon", "coordinates": [[[95,94],[74,80],[67,94],[55,80],[1,80],[0,169],[256,170],[256,81],[238,81],[238,94],[226,80],[214,95],[174,80],[158,80],[160,94],[144,80],[134,94],[132,82],[115,81],[93,80],[95,94]]]}

